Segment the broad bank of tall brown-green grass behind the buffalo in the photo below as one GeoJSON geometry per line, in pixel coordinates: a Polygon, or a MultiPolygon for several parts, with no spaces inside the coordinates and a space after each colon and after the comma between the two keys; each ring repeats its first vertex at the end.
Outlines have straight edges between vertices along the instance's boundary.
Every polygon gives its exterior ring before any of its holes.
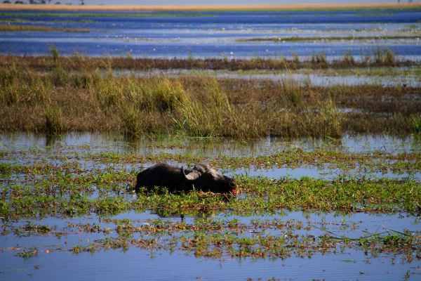
{"type": "Polygon", "coordinates": [[[79,71],[69,71],[57,52],[48,60],[47,72],[25,63],[1,67],[2,131],[339,137],[346,131],[411,133],[420,118],[420,89],[406,86],[320,88],[290,79],[116,77],[109,66],[83,69],[83,60],[79,71]]]}

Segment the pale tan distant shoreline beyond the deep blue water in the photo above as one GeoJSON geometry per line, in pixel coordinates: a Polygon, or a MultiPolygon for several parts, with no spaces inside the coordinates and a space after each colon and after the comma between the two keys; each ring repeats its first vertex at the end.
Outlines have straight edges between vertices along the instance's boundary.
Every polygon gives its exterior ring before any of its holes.
{"type": "Polygon", "coordinates": [[[0,4],[2,11],[342,11],[421,9],[421,3],[291,5],[46,5],[0,4]]]}

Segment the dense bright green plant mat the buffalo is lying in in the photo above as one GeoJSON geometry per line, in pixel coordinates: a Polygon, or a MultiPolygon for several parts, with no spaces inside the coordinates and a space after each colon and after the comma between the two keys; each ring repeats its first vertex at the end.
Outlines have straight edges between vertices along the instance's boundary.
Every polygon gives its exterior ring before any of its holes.
{"type": "MultiPolygon", "coordinates": [[[[239,191],[246,195],[236,200],[226,195],[203,192],[170,194],[140,192],[133,200],[131,192],[119,185],[122,195],[87,197],[72,188],[51,192],[50,183],[38,186],[13,185],[8,201],[1,207],[2,216],[42,217],[48,214],[81,216],[83,214],[119,214],[122,211],[145,209],[166,214],[189,211],[224,211],[238,214],[255,211],[274,212],[281,209],[306,211],[366,211],[416,214],[421,200],[420,184],[411,180],[367,180],[338,178],[335,181],[301,178],[299,180],[237,176],[239,191]],[[67,194],[67,195],[66,195],[67,194]]],[[[99,190],[100,188],[98,188],[99,190]]]]}

